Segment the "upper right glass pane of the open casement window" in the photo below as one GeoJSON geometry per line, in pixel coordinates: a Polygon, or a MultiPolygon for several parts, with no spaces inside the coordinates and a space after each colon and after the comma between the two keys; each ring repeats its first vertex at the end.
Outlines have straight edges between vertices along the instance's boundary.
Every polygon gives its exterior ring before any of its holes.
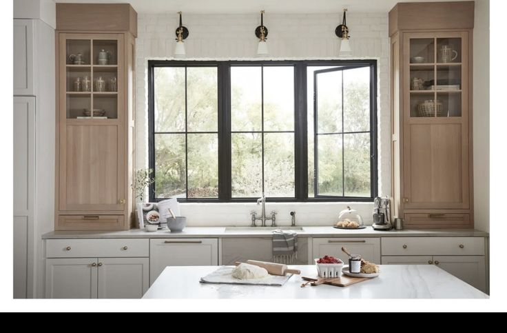
{"type": "Polygon", "coordinates": [[[344,132],[370,130],[370,68],[343,71],[344,132]]]}

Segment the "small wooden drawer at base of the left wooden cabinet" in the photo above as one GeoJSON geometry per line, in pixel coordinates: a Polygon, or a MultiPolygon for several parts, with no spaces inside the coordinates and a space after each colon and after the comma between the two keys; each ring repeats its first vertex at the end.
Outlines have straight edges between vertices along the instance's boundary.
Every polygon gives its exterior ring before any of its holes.
{"type": "Polygon", "coordinates": [[[124,230],[123,215],[60,215],[56,230],[124,230]]]}

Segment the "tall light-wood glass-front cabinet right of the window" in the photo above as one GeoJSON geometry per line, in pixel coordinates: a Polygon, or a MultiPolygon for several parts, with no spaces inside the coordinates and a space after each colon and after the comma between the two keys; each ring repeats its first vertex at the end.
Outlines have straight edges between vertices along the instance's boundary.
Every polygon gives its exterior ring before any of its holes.
{"type": "Polygon", "coordinates": [[[394,215],[410,228],[473,228],[474,2],[389,12],[394,215]]]}

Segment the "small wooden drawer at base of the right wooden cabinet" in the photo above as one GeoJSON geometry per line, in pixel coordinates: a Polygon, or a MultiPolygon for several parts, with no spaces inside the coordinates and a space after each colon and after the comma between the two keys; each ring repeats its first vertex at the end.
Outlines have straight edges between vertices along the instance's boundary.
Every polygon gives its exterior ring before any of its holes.
{"type": "Polygon", "coordinates": [[[411,228],[468,228],[470,214],[459,213],[405,213],[404,225],[411,228]]]}

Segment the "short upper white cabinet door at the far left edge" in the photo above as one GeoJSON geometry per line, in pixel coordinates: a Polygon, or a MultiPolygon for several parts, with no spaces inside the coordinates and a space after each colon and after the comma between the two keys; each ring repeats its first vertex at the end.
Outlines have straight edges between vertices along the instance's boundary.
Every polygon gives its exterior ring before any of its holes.
{"type": "Polygon", "coordinates": [[[14,95],[34,94],[34,21],[14,19],[14,95]]]}

